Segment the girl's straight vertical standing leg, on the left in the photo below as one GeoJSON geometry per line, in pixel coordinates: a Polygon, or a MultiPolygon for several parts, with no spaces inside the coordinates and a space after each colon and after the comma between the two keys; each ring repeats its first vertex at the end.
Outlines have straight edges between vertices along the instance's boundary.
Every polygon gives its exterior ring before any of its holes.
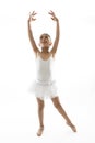
{"type": "Polygon", "coordinates": [[[40,136],[44,130],[44,100],[40,100],[39,98],[37,98],[37,102],[38,102],[38,118],[39,118],[39,129],[37,132],[37,135],[40,136]]]}

